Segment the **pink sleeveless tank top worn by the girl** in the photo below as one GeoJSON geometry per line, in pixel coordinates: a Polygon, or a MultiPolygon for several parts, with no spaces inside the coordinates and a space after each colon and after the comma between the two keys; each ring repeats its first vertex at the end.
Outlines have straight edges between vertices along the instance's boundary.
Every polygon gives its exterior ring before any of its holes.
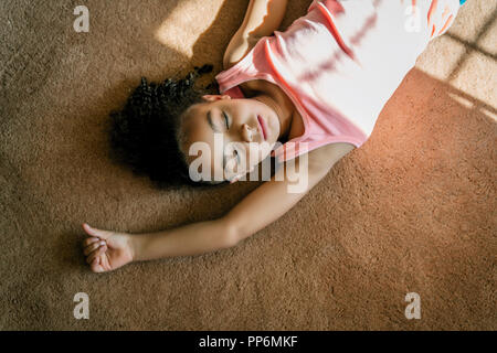
{"type": "Polygon", "coordinates": [[[314,0],[285,32],[262,38],[219,73],[220,93],[265,79],[304,119],[304,135],[272,151],[279,162],[332,142],[360,147],[431,39],[454,21],[458,0],[314,0]],[[306,142],[306,143],[300,143],[306,142]]]}

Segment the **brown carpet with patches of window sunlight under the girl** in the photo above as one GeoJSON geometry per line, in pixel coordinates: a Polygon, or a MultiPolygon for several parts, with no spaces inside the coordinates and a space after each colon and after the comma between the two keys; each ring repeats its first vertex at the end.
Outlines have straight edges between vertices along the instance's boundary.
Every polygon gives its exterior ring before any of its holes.
{"type": "MultiPolygon", "coordinates": [[[[0,2],[0,329],[497,329],[494,1],[467,2],[370,140],[278,222],[105,275],[85,266],[83,222],[165,229],[257,186],[158,191],[109,161],[103,131],[141,75],[219,72],[248,0],[86,0],[76,33],[81,2],[0,2]],[[404,317],[411,291],[421,320],[404,317]],[[73,317],[76,292],[89,320],[73,317]]],[[[290,1],[282,29],[309,3],[290,1]]]]}

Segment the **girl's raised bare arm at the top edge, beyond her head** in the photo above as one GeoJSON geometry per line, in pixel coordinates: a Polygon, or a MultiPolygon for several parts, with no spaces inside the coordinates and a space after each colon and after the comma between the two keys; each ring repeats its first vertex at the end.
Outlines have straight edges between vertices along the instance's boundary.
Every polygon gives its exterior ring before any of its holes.
{"type": "Polygon", "coordinates": [[[251,0],[242,25],[224,52],[224,69],[240,62],[261,38],[273,34],[279,28],[287,2],[287,0],[251,0]]]}

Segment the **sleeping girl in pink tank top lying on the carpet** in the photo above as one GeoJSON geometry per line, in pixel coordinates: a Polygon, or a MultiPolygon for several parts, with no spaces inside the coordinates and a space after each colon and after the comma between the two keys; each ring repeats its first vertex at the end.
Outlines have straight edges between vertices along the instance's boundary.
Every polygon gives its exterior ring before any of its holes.
{"type": "Polygon", "coordinates": [[[149,234],[83,224],[93,271],[232,247],[276,221],[364,143],[417,56],[459,9],[459,0],[314,0],[279,32],[286,4],[250,1],[224,71],[209,86],[220,94],[193,87],[212,69],[204,65],[183,79],[142,79],[110,115],[115,156],[158,184],[233,183],[271,157],[279,168],[214,221],[149,234]],[[297,170],[305,182],[292,191],[297,170]]]}

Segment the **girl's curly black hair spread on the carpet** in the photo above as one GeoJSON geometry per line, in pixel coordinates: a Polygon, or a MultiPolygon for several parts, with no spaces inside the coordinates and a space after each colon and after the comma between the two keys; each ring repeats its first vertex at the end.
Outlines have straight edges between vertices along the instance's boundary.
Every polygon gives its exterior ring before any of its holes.
{"type": "Polygon", "coordinates": [[[109,115],[110,158],[128,164],[138,175],[148,175],[159,189],[202,185],[189,178],[178,132],[182,114],[203,101],[202,95],[219,92],[215,79],[204,88],[194,87],[197,78],[212,68],[211,64],[194,66],[184,78],[159,84],[141,77],[124,108],[109,115]]]}

